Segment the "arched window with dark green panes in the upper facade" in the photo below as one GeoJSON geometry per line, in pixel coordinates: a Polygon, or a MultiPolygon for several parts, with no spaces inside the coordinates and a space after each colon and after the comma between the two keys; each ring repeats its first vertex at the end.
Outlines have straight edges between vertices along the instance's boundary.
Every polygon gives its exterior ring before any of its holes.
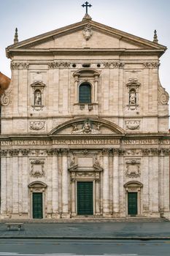
{"type": "Polygon", "coordinates": [[[82,83],[79,87],[79,102],[91,103],[91,86],[89,83],[82,83]]]}

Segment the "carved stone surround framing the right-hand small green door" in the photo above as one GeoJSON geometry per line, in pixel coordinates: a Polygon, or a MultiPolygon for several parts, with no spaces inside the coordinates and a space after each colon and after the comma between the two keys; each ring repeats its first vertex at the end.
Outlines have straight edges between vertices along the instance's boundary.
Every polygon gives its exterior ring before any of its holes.
{"type": "Polygon", "coordinates": [[[125,188],[125,213],[128,216],[128,193],[137,193],[137,216],[142,214],[142,187],[143,184],[139,181],[128,181],[124,184],[125,188]]]}

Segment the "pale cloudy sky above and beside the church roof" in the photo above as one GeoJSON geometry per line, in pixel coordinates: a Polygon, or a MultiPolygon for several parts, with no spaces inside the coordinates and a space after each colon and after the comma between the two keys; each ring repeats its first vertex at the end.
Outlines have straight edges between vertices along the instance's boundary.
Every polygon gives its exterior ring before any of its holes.
{"type": "MultiPolygon", "coordinates": [[[[15,28],[19,41],[82,20],[86,0],[0,0],[0,72],[11,78],[5,48],[13,44],[15,28]]],[[[168,50],[161,56],[161,84],[170,94],[170,1],[169,0],[88,0],[94,21],[152,41],[168,50]]]]}

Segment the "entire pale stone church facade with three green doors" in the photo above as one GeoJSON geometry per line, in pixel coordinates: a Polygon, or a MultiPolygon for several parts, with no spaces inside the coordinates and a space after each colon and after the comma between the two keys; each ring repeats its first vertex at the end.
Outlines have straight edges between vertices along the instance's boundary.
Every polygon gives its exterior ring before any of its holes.
{"type": "Polygon", "coordinates": [[[166,47],[82,21],[7,48],[1,219],[167,217],[166,47]]]}

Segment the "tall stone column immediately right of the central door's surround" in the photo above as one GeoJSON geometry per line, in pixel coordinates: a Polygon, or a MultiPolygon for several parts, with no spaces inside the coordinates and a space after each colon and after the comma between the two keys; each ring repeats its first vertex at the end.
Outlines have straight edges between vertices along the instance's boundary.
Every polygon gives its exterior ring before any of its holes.
{"type": "Polygon", "coordinates": [[[109,217],[109,149],[104,148],[103,151],[103,216],[109,217]]]}

